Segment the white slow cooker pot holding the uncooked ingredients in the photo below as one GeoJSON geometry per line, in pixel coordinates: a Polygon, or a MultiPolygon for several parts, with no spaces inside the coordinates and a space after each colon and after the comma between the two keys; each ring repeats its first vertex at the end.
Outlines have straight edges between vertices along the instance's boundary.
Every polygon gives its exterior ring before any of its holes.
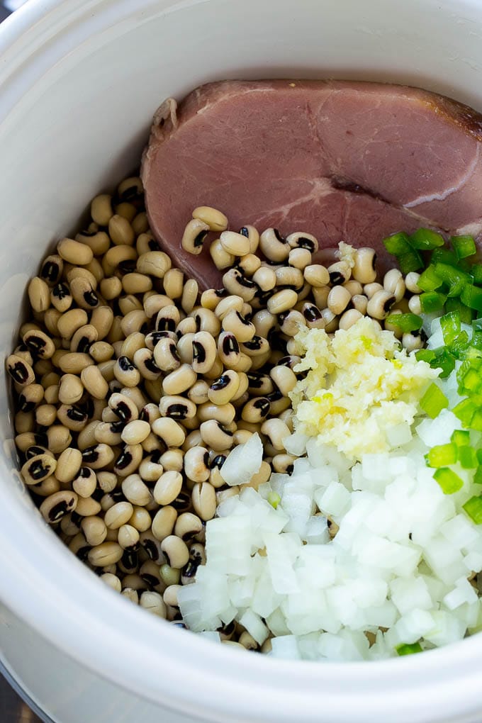
{"type": "MultiPolygon", "coordinates": [[[[390,80],[482,110],[481,0],[30,0],[0,27],[0,332],[49,244],[207,80],[390,80]]],[[[3,366],[2,372],[3,375],[3,366]]],[[[0,655],[56,723],[480,722],[482,638],[387,662],[239,654],[114,594],[22,489],[0,380],[0,655]]]]}

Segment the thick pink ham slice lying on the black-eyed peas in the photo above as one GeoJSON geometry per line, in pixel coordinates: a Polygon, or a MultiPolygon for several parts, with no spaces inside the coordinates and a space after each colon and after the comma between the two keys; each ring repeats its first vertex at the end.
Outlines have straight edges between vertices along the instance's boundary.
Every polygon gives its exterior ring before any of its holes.
{"type": "MultiPolygon", "coordinates": [[[[309,231],[320,247],[374,246],[429,226],[482,235],[482,116],[441,95],[344,81],[216,82],[155,115],[142,161],[152,231],[202,288],[207,248],[181,248],[198,205],[230,227],[309,231]]],[[[205,244],[207,246],[207,244],[205,244]]],[[[392,261],[393,262],[393,261],[392,261]]]]}

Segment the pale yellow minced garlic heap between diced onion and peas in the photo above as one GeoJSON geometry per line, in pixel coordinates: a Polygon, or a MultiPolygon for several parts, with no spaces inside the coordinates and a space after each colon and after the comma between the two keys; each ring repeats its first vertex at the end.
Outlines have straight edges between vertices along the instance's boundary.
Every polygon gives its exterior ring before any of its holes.
{"type": "Polygon", "coordinates": [[[387,430],[412,424],[418,401],[438,376],[425,361],[399,349],[390,331],[363,317],[330,338],[322,329],[296,335],[302,356],[291,401],[295,427],[354,458],[390,450],[387,430]]]}

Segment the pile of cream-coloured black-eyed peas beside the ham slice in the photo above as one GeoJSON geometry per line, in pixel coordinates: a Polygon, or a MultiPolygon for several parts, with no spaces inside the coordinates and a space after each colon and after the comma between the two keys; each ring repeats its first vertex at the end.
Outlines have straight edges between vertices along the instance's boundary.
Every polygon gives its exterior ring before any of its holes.
{"type": "MultiPolygon", "coordinates": [[[[177,592],[205,561],[205,523],[239,492],[220,472],[230,450],[261,436],[252,487],[292,469],[283,440],[298,329],[417,313],[418,275],[394,269],[377,283],[369,248],[325,267],[312,262],[310,234],[228,231],[223,213],[202,207],[182,245],[199,253],[215,232],[223,288],[199,294],[150,234],[137,177],[95,197],[91,216],[30,281],[30,318],[7,359],[22,477],[77,557],[181,625],[177,592]]],[[[222,637],[256,647],[234,624],[222,637]]]]}

